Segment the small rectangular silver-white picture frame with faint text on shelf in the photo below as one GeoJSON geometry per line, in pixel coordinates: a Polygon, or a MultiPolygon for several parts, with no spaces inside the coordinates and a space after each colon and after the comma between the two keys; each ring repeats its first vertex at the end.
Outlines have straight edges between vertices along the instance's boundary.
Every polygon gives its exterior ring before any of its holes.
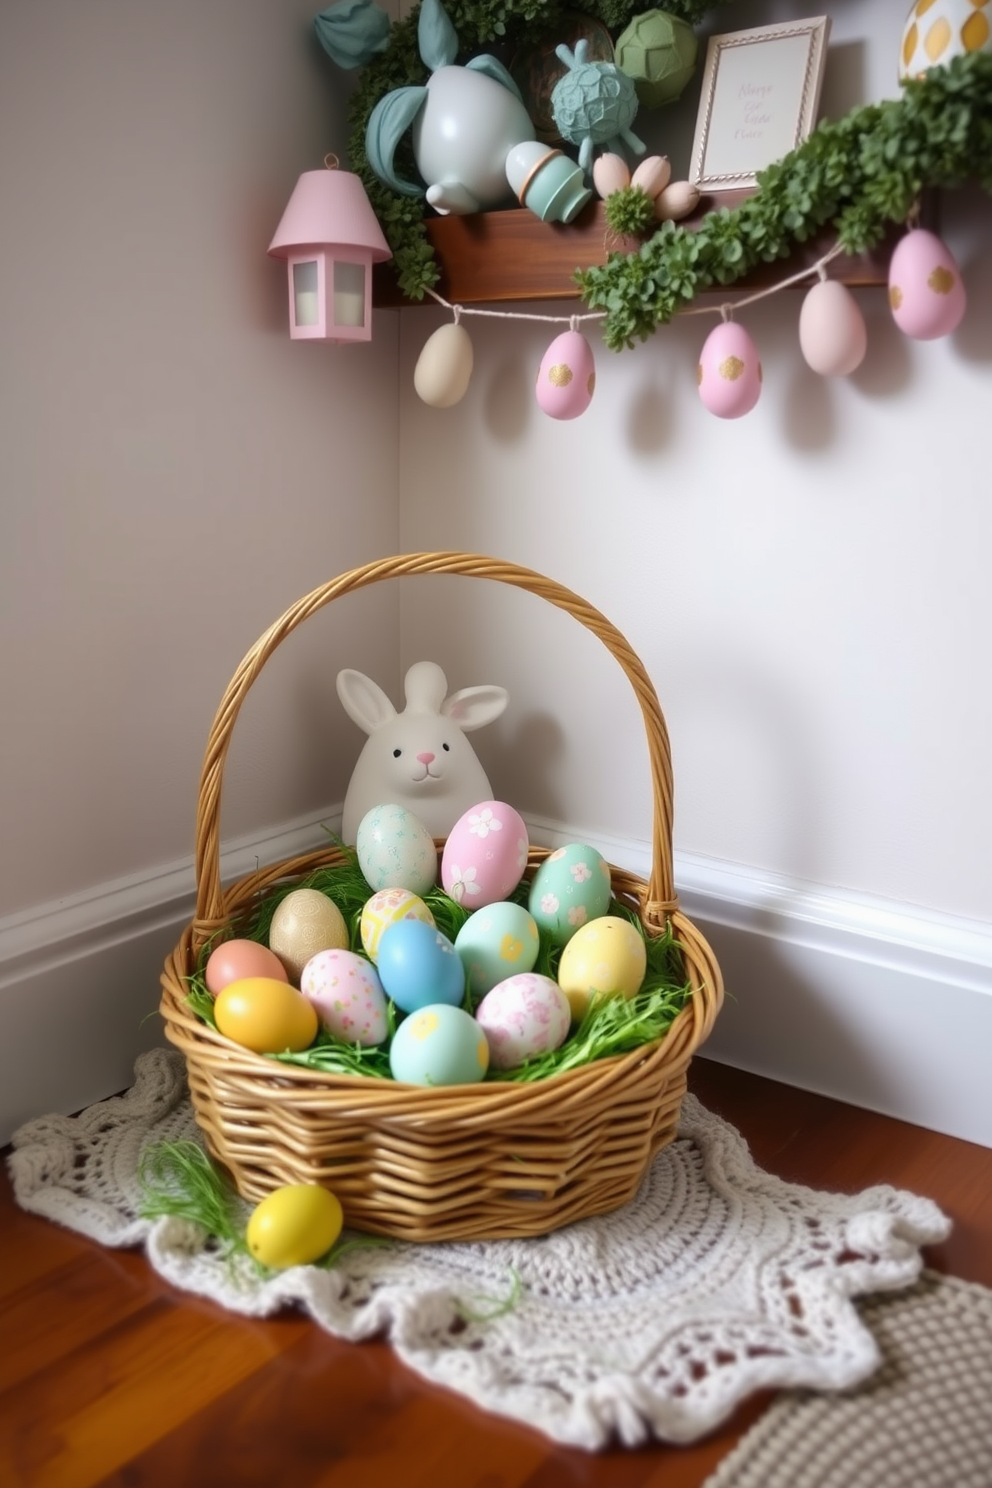
{"type": "Polygon", "coordinates": [[[817,122],[830,16],[711,36],[690,180],[700,192],[754,186],[817,122]]]}

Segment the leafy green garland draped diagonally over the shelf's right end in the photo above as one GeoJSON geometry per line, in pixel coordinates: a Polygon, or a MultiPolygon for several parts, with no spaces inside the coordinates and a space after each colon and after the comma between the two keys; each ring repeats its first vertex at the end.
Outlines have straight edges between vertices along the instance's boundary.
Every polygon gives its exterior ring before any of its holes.
{"type": "Polygon", "coordinates": [[[590,310],[607,312],[604,341],[620,351],[696,295],[785,257],[821,228],[831,226],[846,253],[863,253],[907,220],[924,189],[967,180],[992,192],[989,52],[931,68],[898,100],[822,122],[761,171],[736,211],[712,211],[696,231],[666,222],[640,251],[577,269],[576,283],[590,310]]]}

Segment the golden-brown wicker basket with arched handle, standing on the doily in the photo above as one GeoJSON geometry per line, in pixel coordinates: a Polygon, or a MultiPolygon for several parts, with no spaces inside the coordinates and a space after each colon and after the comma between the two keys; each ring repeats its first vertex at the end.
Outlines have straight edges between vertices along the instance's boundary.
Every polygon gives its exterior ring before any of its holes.
{"type": "MultiPolygon", "coordinates": [[[[196,814],[196,915],[162,972],[165,1031],[183,1051],[196,1120],[213,1156],[251,1201],[283,1183],[323,1183],[345,1223],[413,1241],[541,1235],[619,1208],[675,1135],[689,1061],[723,1001],[712,951],[678,909],[672,885],[672,778],[665,720],[641,662],[610,622],[528,568],[470,554],[408,554],[341,574],[299,600],[251,647],[210,732],[196,814]],[[647,731],[654,798],[651,875],[611,866],[616,897],[650,936],[671,924],[692,997],[663,1039],[531,1083],[424,1089],[326,1074],[214,1033],[186,1007],[186,978],[220,927],[262,894],[342,860],[335,847],[220,885],[220,792],[231,734],[251,683],[309,615],[345,594],[406,574],[454,573],[528,589],[567,610],[607,646],[634,687],[647,731]]],[[[532,848],[526,873],[547,856],[532,848]]]]}

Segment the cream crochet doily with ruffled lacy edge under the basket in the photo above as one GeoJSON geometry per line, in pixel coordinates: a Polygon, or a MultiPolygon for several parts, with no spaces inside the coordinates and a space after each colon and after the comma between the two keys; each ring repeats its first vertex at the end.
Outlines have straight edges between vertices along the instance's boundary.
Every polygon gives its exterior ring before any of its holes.
{"type": "Polygon", "coordinates": [[[686,1095],[678,1137],[614,1214],[540,1240],[358,1245],[335,1268],[260,1277],[184,1220],[138,1217],[141,1149],[190,1137],[183,1058],[152,1051],[125,1095],[15,1132],[16,1201],[144,1245],[170,1283],[233,1311],[299,1305],[339,1338],[382,1335],[427,1379],[586,1449],[690,1442],[756,1390],[866,1379],[882,1356],[851,1299],[915,1283],[919,1247],[950,1229],[898,1189],[819,1193],[763,1173],[686,1095]]]}

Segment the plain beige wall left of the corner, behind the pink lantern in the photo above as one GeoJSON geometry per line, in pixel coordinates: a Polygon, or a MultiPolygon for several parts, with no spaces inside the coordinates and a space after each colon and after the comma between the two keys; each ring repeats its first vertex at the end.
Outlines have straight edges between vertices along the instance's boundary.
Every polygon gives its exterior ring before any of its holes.
{"type": "MultiPolygon", "coordinates": [[[[266,256],[297,174],[347,152],[312,12],[0,7],[0,917],[187,854],[241,655],[397,545],[397,315],[290,344],[266,256]]],[[[278,653],[228,830],[339,795],[335,671],[391,676],[394,609],[278,653]]]]}

